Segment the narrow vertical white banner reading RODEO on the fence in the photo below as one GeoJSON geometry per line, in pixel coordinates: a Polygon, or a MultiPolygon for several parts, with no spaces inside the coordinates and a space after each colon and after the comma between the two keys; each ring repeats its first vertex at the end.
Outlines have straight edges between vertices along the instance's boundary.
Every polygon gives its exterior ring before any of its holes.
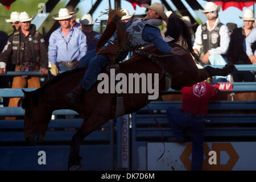
{"type": "Polygon", "coordinates": [[[129,114],[122,117],[122,168],[129,169],[129,114]]]}

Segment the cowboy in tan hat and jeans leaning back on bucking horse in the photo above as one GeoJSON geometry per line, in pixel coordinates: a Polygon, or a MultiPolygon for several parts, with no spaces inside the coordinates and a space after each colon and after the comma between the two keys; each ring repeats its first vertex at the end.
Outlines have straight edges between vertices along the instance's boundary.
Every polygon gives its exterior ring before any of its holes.
{"type": "MultiPolygon", "coordinates": [[[[160,29],[158,26],[162,24],[163,20],[168,20],[166,14],[164,13],[164,6],[161,3],[153,3],[151,6],[142,5],[147,11],[147,16],[143,19],[131,19],[126,23],[127,36],[132,35],[132,39],[129,42],[130,47],[135,47],[138,49],[149,43],[154,43],[154,45],[165,54],[175,54],[184,55],[185,51],[181,48],[174,47],[171,48],[166,42],[164,42],[160,29]]],[[[109,24],[110,26],[110,24],[109,24]]],[[[108,28],[108,25],[107,25],[108,28]]],[[[106,28],[106,30],[107,30],[106,28]]],[[[105,32],[106,32],[105,30],[105,32]]],[[[104,36],[104,34],[102,35],[104,36]]],[[[102,37],[101,37],[102,38],[102,37]]],[[[109,44],[108,46],[112,46],[109,44]]],[[[108,49],[108,46],[104,46],[108,49]]],[[[98,47],[98,45],[97,45],[98,47]]],[[[113,48],[109,48],[109,51],[115,51],[113,48]]],[[[68,94],[68,98],[71,102],[79,102],[82,89],[88,91],[92,88],[93,84],[97,81],[97,76],[101,72],[101,69],[109,63],[112,57],[104,54],[104,49],[97,52],[89,61],[89,65],[84,77],[75,89],[68,94]]],[[[123,53],[118,60],[122,60],[127,56],[127,52],[123,53]]]]}

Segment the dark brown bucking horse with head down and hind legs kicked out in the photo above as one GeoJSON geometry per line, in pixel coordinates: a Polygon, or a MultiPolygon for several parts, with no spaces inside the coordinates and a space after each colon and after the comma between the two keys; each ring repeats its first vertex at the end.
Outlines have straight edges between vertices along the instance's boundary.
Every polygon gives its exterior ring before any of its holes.
{"type": "MultiPolygon", "coordinates": [[[[169,19],[169,21],[170,20],[171,19],[169,19]]],[[[184,22],[177,22],[176,25],[172,22],[172,26],[176,27],[172,27],[174,31],[180,30],[183,31],[183,35],[185,33],[189,35],[184,22]],[[180,28],[177,28],[177,26],[180,28]]],[[[167,34],[172,35],[172,33],[168,31],[167,34]]],[[[189,39],[191,38],[190,36],[187,37],[189,39]]],[[[139,75],[141,73],[158,73],[159,91],[165,89],[166,73],[172,77],[172,88],[181,88],[181,86],[191,86],[211,76],[226,76],[234,71],[235,67],[232,64],[228,64],[222,69],[212,67],[198,69],[191,57],[191,40],[187,40],[187,43],[190,52],[184,49],[187,54],[183,56],[171,55],[159,57],[162,56],[163,53],[154,47],[150,49],[146,55],[138,54],[120,63],[120,70],[127,77],[129,73],[138,73],[139,75]]],[[[179,46],[175,43],[168,44],[171,47],[179,46]]],[[[97,81],[88,92],[82,94],[81,102],[76,104],[69,102],[67,94],[80,83],[85,72],[86,68],[77,68],[51,78],[41,88],[32,92],[25,92],[23,90],[24,97],[22,107],[25,110],[24,137],[31,144],[35,144],[35,138],[38,142],[43,141],[52,111],[54,110],[75,110],[80,114],[81,118],[84,119],[84,122],[71,140],[68,160],[68,169],[71,170],[78,169],[81,166],[79,151],[82,140],[110,119],[117,117],[117,115],[115,115],[117,102],[116,94],[98,93],[97,86],[100,81],[97,81]]],[[[106,73],[110,76],[109,68],[105,67],[102,73],[106,73]]],[[[148,93],[123,93],[122,96],[123,105],[125,107],[124,114],[133,113],[150,102],[150,100],[148,100],[148,93]]]]}

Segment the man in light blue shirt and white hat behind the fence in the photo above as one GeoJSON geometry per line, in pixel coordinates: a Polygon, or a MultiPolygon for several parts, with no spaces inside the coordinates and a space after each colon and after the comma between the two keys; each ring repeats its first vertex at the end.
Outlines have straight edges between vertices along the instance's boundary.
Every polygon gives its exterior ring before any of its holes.
{"type": "Polygon", "coordinates": [[[60,9],[58,17],[53,16],[61,26],[49,38],[48,58],[54,76],[59,70],[73,69],[87,51],[86,36],[81,30],[71,26],[72,17],[67,8],[60,9]]]}

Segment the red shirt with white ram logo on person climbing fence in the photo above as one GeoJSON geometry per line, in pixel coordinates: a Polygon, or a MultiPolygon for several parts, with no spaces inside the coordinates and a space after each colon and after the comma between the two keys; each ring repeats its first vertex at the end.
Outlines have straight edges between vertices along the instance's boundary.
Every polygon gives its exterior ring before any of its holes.
{"type": "Polygon", "coordinates": [[[182,109],[193,114],[207,114],[210,100],[217,100],[218,90],[202,81],[181,89],[182,109]]]}

